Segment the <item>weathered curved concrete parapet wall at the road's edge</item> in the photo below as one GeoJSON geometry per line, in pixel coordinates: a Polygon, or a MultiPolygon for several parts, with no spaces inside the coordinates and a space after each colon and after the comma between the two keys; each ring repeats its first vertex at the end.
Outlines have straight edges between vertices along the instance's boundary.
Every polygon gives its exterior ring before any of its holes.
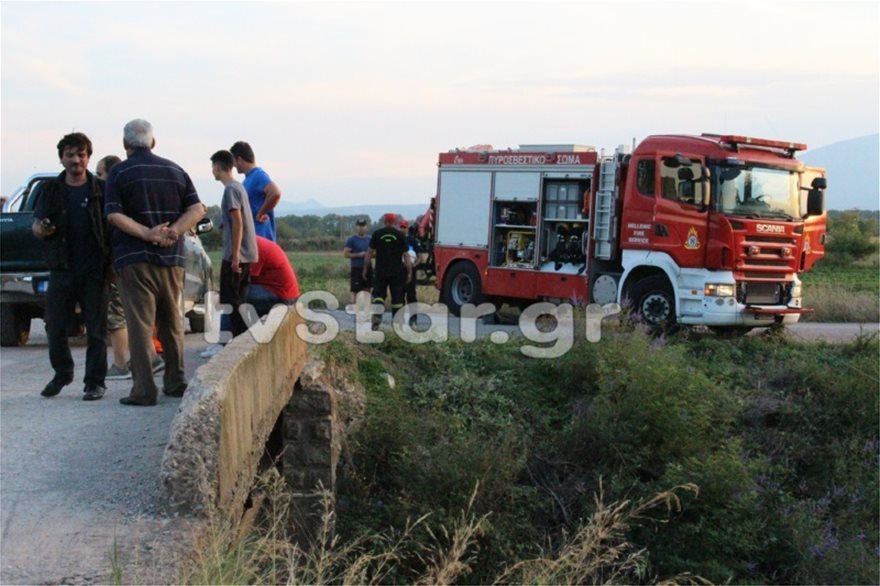
{"type": "Polygon", "coordinates": [[[196,371],[162,457],[171,510],[240,518],[266,440],[308,360],[296,334],[302,323],[289,311],[270,342],[239,336],[196,371]]]}

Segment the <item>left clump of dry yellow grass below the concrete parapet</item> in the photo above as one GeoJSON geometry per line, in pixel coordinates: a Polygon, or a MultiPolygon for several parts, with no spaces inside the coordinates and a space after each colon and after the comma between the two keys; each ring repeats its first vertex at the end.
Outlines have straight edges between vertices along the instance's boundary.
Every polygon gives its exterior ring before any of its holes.
{"type": "MultiPolygon", "coordinates": [[[[424,576],[414,580],[420,584],[449,584],[470,571],[468,555],[482,531],[482,518],[463,514],[460,524],[441,528],[443,538],[435,537],[428,548],[414,539],[427,516],[401,531],[342,543],[333,530],[332,496],[325,493],[319,534],[312,543],[297,544],[288,538],[292,510],[283,479],[270,471],[260,485],[267,504],[262,522],[242,535],[233,523],[212,520],[195,537],[191,554],[179,568],[178,583],[385,584],[404,556],[426,560],[424,576]]],[[[428,532],[434,535],[430,528],[428,532]]]]}

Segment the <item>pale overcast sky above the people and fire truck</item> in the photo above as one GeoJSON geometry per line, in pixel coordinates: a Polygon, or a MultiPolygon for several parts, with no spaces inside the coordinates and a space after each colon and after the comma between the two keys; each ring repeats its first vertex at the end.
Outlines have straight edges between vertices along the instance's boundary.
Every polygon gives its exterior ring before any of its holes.
{"type": "Polygon", "coordinates": [[[55,144],[155,152],[202,199],[236,140],[287,201],[427,202],[437,154],[729,132],[811,148],[878,132],[877,2],[37,3],[0,6],[0,178],[55,144]]]}

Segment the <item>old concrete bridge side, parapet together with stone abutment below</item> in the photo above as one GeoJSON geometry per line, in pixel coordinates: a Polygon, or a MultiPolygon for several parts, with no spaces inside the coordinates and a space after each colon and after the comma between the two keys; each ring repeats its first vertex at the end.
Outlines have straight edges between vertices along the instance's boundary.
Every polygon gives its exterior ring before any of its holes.
{"type": "MultiPolygon", "coordinates": [[[[298,327],[306,326],[289,311],[271,341],[239,336],[196,372],[162,458],[171,510],[240,519],[267,458],[281,465],[296,509],[315,510],[325,492],[332,496],[342,431],[336,390],[298,327]]],[[[300,519],[302,538],[312,534],[311,519],[300,519]]]]}

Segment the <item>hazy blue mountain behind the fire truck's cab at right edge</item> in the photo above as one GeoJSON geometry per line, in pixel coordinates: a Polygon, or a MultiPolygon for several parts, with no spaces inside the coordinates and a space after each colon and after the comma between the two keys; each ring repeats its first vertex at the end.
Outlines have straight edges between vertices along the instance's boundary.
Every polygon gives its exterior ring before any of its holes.
{"type": "Polygon", "coordinates": [[[880,135],[871,134],[807,151],[804,163],[828,170],[828,209],[880,209],[880,135]]]}

